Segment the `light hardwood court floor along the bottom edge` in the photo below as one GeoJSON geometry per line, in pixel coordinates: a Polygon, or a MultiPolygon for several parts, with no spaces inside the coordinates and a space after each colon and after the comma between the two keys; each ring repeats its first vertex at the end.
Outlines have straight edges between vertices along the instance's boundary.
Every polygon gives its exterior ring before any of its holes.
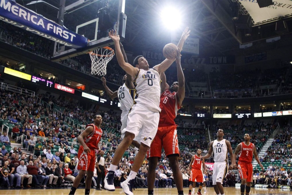
{"type": "MultiPolygon", "coordinates": [[[[10,190],[0,190],[0,194],[11,194],[11,195],[68,195],[70,189],[10,189],[10,190]]],[[[77,189],[76,195],[84,195],[84,189],[77,189]]],[[[196,188],[197,191],[197,188],[196,188]]],[[[121,194],[124,195],[124,191],[122,189],[116,189],[116,191],[96,191],[95,189],[90,190],[91,195],[111,195],[111,194],[121,194]]],[[[147,189],[136,189],[134,191],[135,195],[147,195],[147,189]]],[[[184,188],[184,194],[188,194],[188,189],[184,188]]],[[[281,189],[260,189],[260,188],[251,188],[250,195],[292,195],[292,191],[289,189],[281,190],[281,189]]],[[[176,188],[156,188],[154,189],[154,195],[177,195],[176,188]]],[[[206,195],[216,195],[213,188],[207,188],[206,195]]],[[[240,187],[225,187],[225,195],[240,195],[240,187]]]]}

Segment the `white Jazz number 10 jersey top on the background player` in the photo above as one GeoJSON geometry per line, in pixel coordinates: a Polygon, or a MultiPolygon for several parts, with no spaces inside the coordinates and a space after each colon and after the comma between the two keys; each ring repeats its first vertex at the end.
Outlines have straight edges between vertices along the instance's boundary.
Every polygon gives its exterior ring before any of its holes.
{"type": "Polygon", "coordinates": [[[213,155],[214,162],[225,162],[227,161],[227,145],[226,139],[218,141],[215,139],[213,141],[213,155]]]}

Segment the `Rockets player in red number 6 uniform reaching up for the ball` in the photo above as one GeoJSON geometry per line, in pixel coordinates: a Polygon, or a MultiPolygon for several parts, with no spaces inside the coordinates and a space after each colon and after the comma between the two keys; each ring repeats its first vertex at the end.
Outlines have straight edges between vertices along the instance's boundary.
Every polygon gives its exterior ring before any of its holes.
{"type": "MultiPolygon", "coordinates": [[[[190,35],[188,27],[183,32],[181,40],[187,39],[190,35]]],[[[181,41],[180,40],[180,41],[181,41]]],[[[181,51],[181,48],[178,48],[181,51]]],[[[155,168],[159,158],[161,158],[162,147],[164,148],[166,157],[169,159],[170,166],[173,170],[173,179],[178,189],[178,194],[183,194],[183,175],[179,168],[178,157],[180,155],[178,149],[178,135],[174,119],[185,98],[185,77],[180,64],[180,54],[176,58],[176,67],[178,74],[178,82],[174,82],[171,87],[166,82],[166,76],[161,73],[161,108],[158,130],[147,152],[149,159],[149,169],[147,174],[148,195],[153,194],[155,181],[155,168]]]]}

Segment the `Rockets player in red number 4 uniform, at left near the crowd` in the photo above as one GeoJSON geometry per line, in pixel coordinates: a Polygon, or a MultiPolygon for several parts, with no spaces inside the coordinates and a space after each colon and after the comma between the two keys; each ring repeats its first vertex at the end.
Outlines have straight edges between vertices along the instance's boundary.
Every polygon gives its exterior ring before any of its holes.
{"type": "Polygon", "coordinates": [[[95,169],[95,150],[100,151],[98,143],[102,136],[102,130],[100,128],[101,123],[102,116],[95,115],[94,122],[87,125],[85,130],[77,138],[80,143],[78,151],[79,163],[77,169],[80,170],[80,172],[74,180],[69,195],[75,194],[75,191],[85,174],[87,174],[85,180],[85,195],[89,195],[93,171],[95,169]]]}

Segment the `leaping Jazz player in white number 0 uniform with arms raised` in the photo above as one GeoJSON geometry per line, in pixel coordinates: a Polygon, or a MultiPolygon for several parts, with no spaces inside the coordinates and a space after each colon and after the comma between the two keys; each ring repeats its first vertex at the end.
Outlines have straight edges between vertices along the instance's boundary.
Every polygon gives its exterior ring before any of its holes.
{"type": "MultiPolygon", "coordinates": [[[[131,183],[133,179],[135,179],[157,132],[159,112],[161,111],[159,108],[160,74],[167,70],[175,60],[166,59],[161,64],[149,69],[147,60],[143,56],[137,56],[134,60],[135,67],[133,67],[131,64],[124,61],[119,45],[119,35],[114,31],[110,31],[109,37],[114,41],[119,65],[126,73],[135,78],[134,84],[136,85],[135,90],[138,97],[134,99],[134,105],[129,111],[127,127],[122,130],[122,133],[125,133],[125,137],[117,147],[114,158],[112,159],[112,164],[105,176],[105,189],[109,191],[115,190],[113,184],[114,171],[124,151],[131,144],[134,137],[137,137],[137,141],[141,141],[139,152],[135,157],[128,179],[121,183],[121,187],[124,189],[125,194],[133,195],[131,183]]],[[[178,47],[182,48],[182,46],[183,42],[178,44],[178,47]]],[[[177,54],[179,55],[179,51],[177,51],[177,54]]]]}

